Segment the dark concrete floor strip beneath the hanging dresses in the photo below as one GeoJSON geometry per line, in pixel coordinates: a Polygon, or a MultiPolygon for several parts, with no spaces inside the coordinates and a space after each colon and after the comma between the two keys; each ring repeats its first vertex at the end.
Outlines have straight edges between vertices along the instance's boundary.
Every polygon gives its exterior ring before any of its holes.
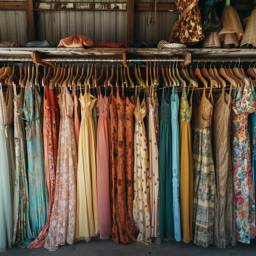
{"type": "Polygon", "coordinates": [[[243,255],[243,256],[256,256],[256,240],[252,240],[252,243],[247,245],[243,243],[237,243],[236,246],[228,245],[225,249],[220,249],[214,245],[210,245],[208,248],[203,248],[194,245],[193,242],[186,244],[183,242],[175,241],[163,241],[162,245],[141,246],[136,243],[129,245],[115,244],[111,239],[99,240],[92,239],[89,243],[80,241],[74,245],[60,246],[55,252],[49,252],[45,248],[40,249],[27,249],[14,247],[7,249],[6,252],[1,253],[0,256],[13,256],[13,255],[61,255],[61,256],[73,256],[73,255],[86,255],[86,256],[162,256],[162,255],[189,255],[189,256],[214,256],[214,255],[243,255]]]}

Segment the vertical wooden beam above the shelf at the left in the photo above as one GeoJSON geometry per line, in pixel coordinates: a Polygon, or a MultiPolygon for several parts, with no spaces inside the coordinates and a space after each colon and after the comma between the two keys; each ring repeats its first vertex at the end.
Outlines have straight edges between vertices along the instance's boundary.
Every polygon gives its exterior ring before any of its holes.
{"type": "Polygon", "coordinates": [[[33,0],[25,0],[26,18],[27,18],[27,40],[28,42],[35,40],[35,22],[34,22],[34,4],[33,0]]]}

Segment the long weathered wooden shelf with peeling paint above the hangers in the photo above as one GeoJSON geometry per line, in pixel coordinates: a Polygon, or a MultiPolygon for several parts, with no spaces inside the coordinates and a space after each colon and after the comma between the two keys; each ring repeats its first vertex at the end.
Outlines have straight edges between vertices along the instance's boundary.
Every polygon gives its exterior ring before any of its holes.
{"type": "Polygon", "coordinates": [[[37,52],[45,57],[99,57],[105,56],[122,56],[126,52],[129,56],[155,56],[155,57],[171,57],[184,56],[191,53],[192,58],[212,59],[228,59],[228,58],[252,58],[256,59],[256,49],[191,49],[191,48],[28,48],[28,47],[1,47],[0,58],[11,57],[31,57],[33,52],[37,52]]]}

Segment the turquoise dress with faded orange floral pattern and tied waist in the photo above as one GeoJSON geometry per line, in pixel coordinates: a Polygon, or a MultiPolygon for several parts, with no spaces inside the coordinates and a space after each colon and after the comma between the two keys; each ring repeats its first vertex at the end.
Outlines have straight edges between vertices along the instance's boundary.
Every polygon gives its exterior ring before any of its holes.
{"type": "Polygon", "coordinates": [[[42,98],[35,88],[32,92],[30,81],[27,79],[24,106],[18,110],[24,113],[27,132],[27,158],[29,180],[29,214],[31,218],[32,236],[35,239],[47,222],[48,191],[45,190],[45,173],[43,158],[43,132],[41,117],[42,98]],[[46,191],[46,192],[45,192],[46,191]]]}

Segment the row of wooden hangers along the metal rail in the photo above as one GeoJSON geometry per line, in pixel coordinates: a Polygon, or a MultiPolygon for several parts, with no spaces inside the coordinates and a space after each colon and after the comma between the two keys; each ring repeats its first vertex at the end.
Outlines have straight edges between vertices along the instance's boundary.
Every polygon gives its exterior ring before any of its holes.
{"type": "MultiPolygon", "coordinates": [[[[175,86],[194,86],[198,88],[198,85],[201,83],[203,87],[208,87],[211,83],[214,87],[220,88],[221,86],[226,87],[228,81],[231,85],[234,87],[240,87],[243,86],[242,78],[245,76],[245,70],[243,67],[240,66],[240,59],[238,63],[238,67],[236,67],[236,64],[233,68],[231,68],[231,62],[228,68],[222,67],[224,62],[222,62],[222,65],[220,69],[217,70],[217,68],[212,68],[213,61],[211,62],[211,65],[209,69],[205,67],[206,61],[204,61],[204,67],[200,68],[198,65],[195,68],[195,70],[192,69],[192,65],[190,68],[186,67],[184,68],[182,65],[181,70],[177,67],[178,58],[176,57],[172,62],[172,58],[170,58],[170,62],[165,65],[162,65],[159,67],[159,59],[157,61],[156,65],[156,58],[154,65],[151,65],[151,58],[147,58],[146,61],[146,79],[142,78],[141,75],[141,68],[140,68],[140,60],[138,59],[136,61],[135,59],[135,66],[134,66],[134,76],[137,81],[137,85],[141,87],[148,87],[148,85],[159,85],[159,69],[161,70],[162,79],[164,81],[164,84],[166,86],[168,85],[175,85],[175,86]],[[138,61],[138,65],[137,65],[138,61]],[[149,62],[149,63],[148,63],[149,62]]],[[[252,77],[252,82],[255,86],[256,79],[256,67],[250,67],[252,64],[252,61],[249,65],[249,68],[246,70],[246,75],[252,77]]],[[[94,62],[93,65],[93,59],[92,64],[90,65],[90,62],[88,62],[88,66],[83,65],[81,74],[79,72],[79,66],[74,67],[74,64],[70,63],[69,67],[66,65],[66,63],[63,64],[63,67],[52,67],[51,65],[47,69],[47,67],[44,67],[43,70],[43,76],[40,74],[39,66],[36,66],[34,64],[25,65],[23,68],[20,65],[19,70],[19,76],[16,74],[16,67],[13,64],[13,67],[3,66],[0,68],[0,81],[4,82],[7,85],[11,85],[12,83],[15,83],[16,85],[20,85],[21,88],[25,88],[27,79],[30,80],[31,86],[39,85],[39,79],[43,86],[47,85],[49,88],[53,89],[56,87],[75,87],[75,85],[79,85],[80,88],[83,85],[88,85],[90,87],[97,87],[98,85],[107,87],[110,85],[113,85],[115,83],[116,87],[119,87],[119,82],[121,82],[121,86],[124,90],[124,87],[131,87],[134,88],[134,82],[130,74],[130,68],[127,65],[127,67],[124,67],[122,65],[121,60],[120,64],[118,65],[115,70],[114,63],[112,65],[106,66],[106,78],[103,80],[104,74],[105,74],[105,68],[102,65],[101,66],[101,73],[99,76],[97,76],[97,68],[96,64],[94,62]]]]}

